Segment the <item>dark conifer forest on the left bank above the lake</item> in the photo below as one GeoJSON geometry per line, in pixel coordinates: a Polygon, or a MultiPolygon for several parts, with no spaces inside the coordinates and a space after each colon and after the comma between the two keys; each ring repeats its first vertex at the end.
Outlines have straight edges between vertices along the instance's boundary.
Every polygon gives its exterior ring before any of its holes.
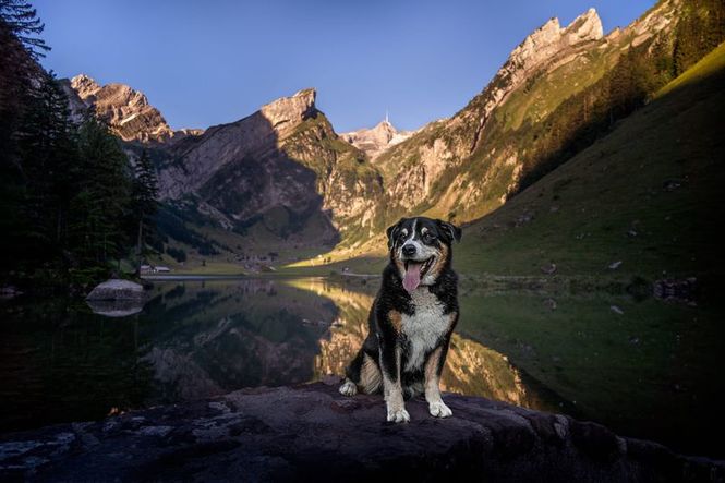
{"type": "Polygon", "coordinates": [[[82,290],[149,250],[156,174],[94,116],[70,118],[43,29],[29,3],[0,2],[0,282],[82,290]]]}

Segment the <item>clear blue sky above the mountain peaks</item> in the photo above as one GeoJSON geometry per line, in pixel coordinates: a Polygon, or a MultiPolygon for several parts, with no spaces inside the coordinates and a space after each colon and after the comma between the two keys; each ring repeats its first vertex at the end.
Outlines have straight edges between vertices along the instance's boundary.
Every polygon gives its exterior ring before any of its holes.
{"type": "Polygon", "coordinates": [[[172,128],[249,116],[304,87],[343,132],[390,112],[415,129],[462,108],[552,16],[594,7],[605,33],[654,0],[37,0],[58,76],[144,92],[172,128]]]}

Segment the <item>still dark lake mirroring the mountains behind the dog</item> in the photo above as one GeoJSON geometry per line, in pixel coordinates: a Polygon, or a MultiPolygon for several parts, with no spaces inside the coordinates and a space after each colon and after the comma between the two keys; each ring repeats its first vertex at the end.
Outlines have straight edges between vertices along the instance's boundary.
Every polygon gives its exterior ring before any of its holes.
{"type": "MultiPolygon", "coordinates": [[[[341,375],[366,335],[375,285],[155,280],[143,311],[113,317],[71,299],[2,301],[0,432],[341,375]]],[[[463,282],[442,386],[723,457],[712,443],[724,393],[715,314],[572,287],[463,282]]]]}

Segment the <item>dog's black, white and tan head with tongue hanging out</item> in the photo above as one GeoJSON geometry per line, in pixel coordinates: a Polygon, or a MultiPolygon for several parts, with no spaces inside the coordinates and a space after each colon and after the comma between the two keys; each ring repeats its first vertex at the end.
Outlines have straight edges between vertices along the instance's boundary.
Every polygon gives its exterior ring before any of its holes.
{"type": "Polygon", "coordinates": [[[401,218],[387,233],[390,262],[398,268],[408,292],[421,285],[434,285],[450,266],[454,240],[461,239],[460,228],[424,217],[401,218]]]}

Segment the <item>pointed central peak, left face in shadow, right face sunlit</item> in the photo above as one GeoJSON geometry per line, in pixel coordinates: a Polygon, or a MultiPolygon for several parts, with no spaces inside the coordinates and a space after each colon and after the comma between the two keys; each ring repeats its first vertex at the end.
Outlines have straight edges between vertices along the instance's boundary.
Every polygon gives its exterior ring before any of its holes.
{"type": "Polygon", "coordinates": [[[364,154],[338,138],[315,95],[300,90],[171,146],[161,198],[193,196],[229,228],[269,214],[283,218],[278,234],[289,234],[314,220],[323,225],[317,242],[334,244],[348,218],[373,207],[382,183],[364,154]]]}

